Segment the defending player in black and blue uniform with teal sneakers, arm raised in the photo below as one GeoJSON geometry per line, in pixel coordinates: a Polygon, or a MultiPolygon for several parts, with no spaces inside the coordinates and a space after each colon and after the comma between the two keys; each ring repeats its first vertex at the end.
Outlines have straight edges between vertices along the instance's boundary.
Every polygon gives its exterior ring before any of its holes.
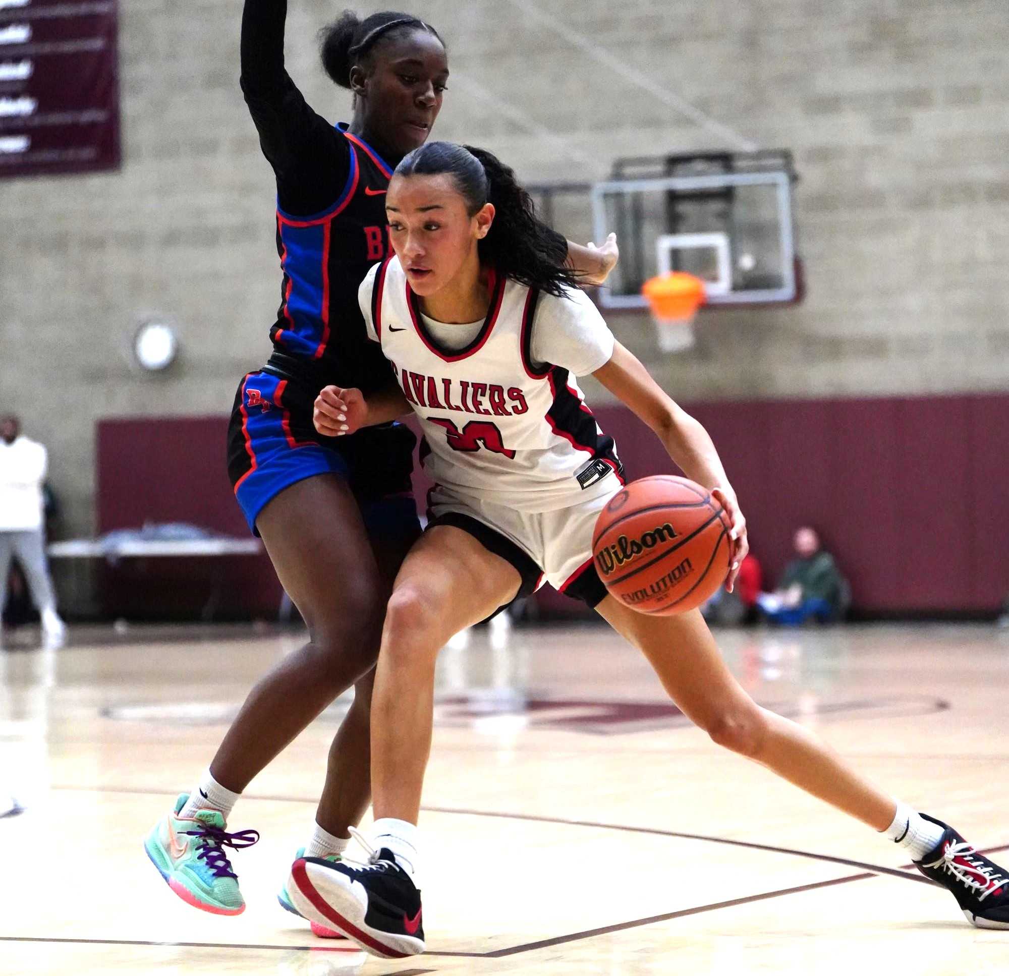
{"type": "MultiPolygon", "coordinates": [[[[371,670],[391,581],[420,531],[410,493],[413,435],[388,423],[343,440],[320,437],[312,404],[325,383],[380,399],[390,382],[380,349],[366,339],[357,289],[388,252],[393,167],[424,142],[441,108],[445,46],[413,15],[359,20],[345,12],[322,45],[327,74],[354,97],[350,124],[334,127],[285,70],[286,17],[285,0],[245,2],[241,85],[276,175],[284,276],[273,353],[235,397],[228,467],[249,527],[262,536],[311,639],[252,690],[208,770],[146,841],[173,890],[220,914],[244,908],[225,849],[257,837],[226,833],[232,806],[351,685],[354,702],[333,740],[307,853],[338,857],[347,827],[367,808],[371,670]]],[[[555,243],[564,249],[563,238],[555,243]]],[[[615,259],[612,241],[570,246],[584,280],[604,278],[615,259]]],[[[291,909],[283,891],[281,903],[291,909]]]]}

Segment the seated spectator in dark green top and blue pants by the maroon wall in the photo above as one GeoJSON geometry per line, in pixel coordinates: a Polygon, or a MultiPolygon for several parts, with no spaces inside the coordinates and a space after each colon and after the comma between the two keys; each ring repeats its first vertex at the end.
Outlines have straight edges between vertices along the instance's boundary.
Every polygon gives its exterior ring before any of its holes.
{"type": "Polygon", "coordinates": [[[833,557],[820,544],[816,529],[808,525],[797,529],[793,545],[797,558],[785,567],[778,589],[757,597],[761,613],[783,624],[842,619],[847,610],[848,583],[833,557]]]}

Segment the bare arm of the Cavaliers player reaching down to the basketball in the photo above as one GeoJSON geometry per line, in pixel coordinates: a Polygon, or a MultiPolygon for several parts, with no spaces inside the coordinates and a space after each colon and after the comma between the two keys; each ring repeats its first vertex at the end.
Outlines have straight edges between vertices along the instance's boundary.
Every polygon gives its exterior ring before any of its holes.
{"type": "Polygon", "coordinates": [[[605,366],[592,374],[658,436],[669,457],[697,484],[708,488],[725,507],[733,523],[733,565],[725,586],[732,592],[750,545],[747,520],[707,431],[652,379],[641,361],[616,343],[605,366]]]}

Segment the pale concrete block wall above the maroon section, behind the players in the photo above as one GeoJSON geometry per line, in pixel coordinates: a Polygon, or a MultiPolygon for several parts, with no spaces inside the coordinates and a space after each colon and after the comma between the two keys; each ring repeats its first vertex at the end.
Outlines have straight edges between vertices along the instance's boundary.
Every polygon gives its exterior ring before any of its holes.
{"type": "MultiPolygon", "coordinates": [[[[724,145],[663,92],[795,152],[802,306],[704,315],[678,358],[658,355],[643,317],[612,319],[674,395],[1009,386],[1004,0],[406,5],[450,46],[437,135],[486,145],[531,180],[724,145]]],[[[334,119],[349,100],[314,38],[340,6],[290,0],[288,25],[289,70],[334,119]]],[[[124,0],[122,170],[0,184],[0,408],[49,446],[70,533],[93,527],[97,417],[226,412],[268,353],[273,187],[238,90],[240,7],[124,0]],[[152,314],[171,315],[182,342],[163,377],[130,360],[152,314]]]]}

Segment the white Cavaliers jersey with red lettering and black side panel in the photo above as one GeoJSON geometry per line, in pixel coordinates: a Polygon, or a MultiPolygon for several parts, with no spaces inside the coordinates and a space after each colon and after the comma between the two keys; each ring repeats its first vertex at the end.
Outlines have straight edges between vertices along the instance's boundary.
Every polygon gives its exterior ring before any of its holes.
{"type": "Polygon", "coordinates": [[[612,438],[599,430],[574,376],[532,360],[537,310],[570,300],[491,279],[479,332],[448,351],[425,327],[397,257],[368,273],[361,287],[368,333],[420,418],[421,460],[437,484],[522,511],[552,511],[623,481],[612,438]]]}

